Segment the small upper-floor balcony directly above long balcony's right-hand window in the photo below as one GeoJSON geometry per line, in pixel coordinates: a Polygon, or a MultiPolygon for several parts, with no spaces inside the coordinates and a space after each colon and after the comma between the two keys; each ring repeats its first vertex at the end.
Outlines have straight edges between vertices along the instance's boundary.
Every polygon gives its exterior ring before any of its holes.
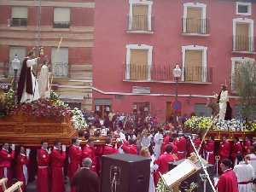
{"type": "Polygon", "coordinates": [[[209,36],[208,19],[183,18],[183,35],[187,36],[209,36]]]}

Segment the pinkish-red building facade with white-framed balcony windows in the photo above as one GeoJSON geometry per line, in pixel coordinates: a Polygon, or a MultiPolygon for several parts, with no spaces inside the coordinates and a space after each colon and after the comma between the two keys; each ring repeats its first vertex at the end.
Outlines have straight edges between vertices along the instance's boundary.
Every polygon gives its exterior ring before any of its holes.
{"type": "Polygon", "coordinates": [[[169,119],[178,64],[181,113],[209,115],[207,97],[227,84],[237,115],[232,76],[237,66],[255,61],[255,20],[253,0],[96,0],[95,110],[169,119]]]}

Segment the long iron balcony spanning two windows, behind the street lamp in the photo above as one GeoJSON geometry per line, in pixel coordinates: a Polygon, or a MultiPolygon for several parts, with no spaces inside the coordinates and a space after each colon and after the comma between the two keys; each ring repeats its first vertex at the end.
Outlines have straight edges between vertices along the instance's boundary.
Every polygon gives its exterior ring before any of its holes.
{"type": "MultiPolygon", "coordinates": [[[[124,66],[124,81],[173,83],[171,65],[130,65],[124,66]]],[[[183,83],[210,84],[212,83],[212,67],[185,67],[181,78],[183,83]]]]}

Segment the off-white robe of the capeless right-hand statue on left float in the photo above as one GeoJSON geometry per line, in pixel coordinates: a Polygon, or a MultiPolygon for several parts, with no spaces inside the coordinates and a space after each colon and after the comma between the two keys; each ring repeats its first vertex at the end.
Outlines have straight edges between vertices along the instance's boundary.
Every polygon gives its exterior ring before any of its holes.
{"type": "Polygon", "coordinates": [[[46,65],[41,67],[41,72],[38,77],[38,88],[41,98],[49,98],[49,67],[46,65]]]}

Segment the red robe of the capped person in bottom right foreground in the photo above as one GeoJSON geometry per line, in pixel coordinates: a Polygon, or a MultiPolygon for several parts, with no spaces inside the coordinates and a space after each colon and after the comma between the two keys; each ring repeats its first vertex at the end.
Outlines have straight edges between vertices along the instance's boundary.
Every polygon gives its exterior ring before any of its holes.
{"type": "Polygon", "coordinates": [[[218,192],[238,192],[236,173],[232,169],[226,170],[218,179],[218,192]]]}

